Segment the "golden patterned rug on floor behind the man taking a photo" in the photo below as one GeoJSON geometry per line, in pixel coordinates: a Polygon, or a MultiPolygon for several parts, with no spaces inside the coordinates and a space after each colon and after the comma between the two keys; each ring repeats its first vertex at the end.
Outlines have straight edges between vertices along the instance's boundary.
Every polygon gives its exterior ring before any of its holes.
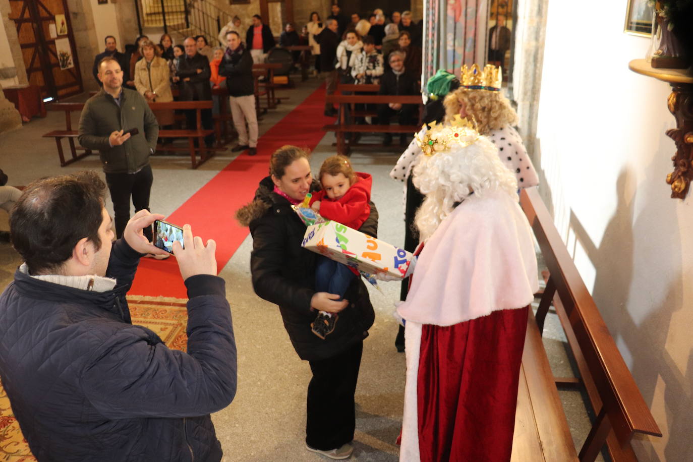
{"type": "MultiPolygon", "coordinates": [[[[146,326],[169,348],[185,351],[188,337],[186,300],[168,297],[128,296],[132,323],[146,326]]],[[[10,400],[0,384],[0,461],[36,461],[12,414],[10,400]]]]}

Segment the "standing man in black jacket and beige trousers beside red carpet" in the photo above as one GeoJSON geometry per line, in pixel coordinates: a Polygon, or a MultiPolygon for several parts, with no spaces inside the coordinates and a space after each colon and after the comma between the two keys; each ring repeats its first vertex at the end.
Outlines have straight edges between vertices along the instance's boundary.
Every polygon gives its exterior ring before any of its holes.
{"type": "Polygon", "coordinates": [[[219,73],[226,77],[231,115],[234,117],[234,126],[238,132],[238,145],[231,149],[231,152],[247,149],[248,155],[254,156],[258,145],[258,118],[255,110],[253,58],[250,56],[250,51],[240,42],[240,35],[236,31],[229,31],[226,39],[229,48],[226,49],[224,59],[219,64],[219,73]]]}

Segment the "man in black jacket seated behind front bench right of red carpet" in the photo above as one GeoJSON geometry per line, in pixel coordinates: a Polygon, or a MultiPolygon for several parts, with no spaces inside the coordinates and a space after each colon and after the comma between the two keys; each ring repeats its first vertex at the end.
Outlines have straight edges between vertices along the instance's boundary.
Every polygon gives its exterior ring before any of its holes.
{"type": "MultiPolygon", "coordinates": [[[[390,69],[380,78],[381,95],[416,95],[419,90],[416,88],[416,78],[406,72],[404,68],[404,53],[401,51],[393,51],[389,55],[390,69]]],[[[387,105],[378,105],[378,123],[380,125],[389,125],[390,117],[395,114],[398,116],[399,125],[412,125],[414,123],[414,114],[416,113],[416,105],[402,105],[399,103],[389,103],[387,105]]],[[[406,146],[406,135],[400,135],[400,144],[406,146]]],[[[386,133],[383,144],[392,144],[392,134],[386,133]]]]}

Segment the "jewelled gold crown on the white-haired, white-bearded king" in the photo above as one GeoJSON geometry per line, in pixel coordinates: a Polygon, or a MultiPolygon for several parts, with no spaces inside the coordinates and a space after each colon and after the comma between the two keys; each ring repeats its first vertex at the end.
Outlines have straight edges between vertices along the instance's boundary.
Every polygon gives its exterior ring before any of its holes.
{"type": "Polygon", "coordinates": [[[470,121],[466,117],[462,118],[459,114],[455,114],[455,118],[448,125],[434,121],[429,123],[428,127],[423,124],[421,128],[426,128],[426,133],[423,136],[419,136],[417,133],[414,138],[426,156],[432,156],[452,148],[466,148],[479,139],[479,131],[474,118],[470,121]]]}

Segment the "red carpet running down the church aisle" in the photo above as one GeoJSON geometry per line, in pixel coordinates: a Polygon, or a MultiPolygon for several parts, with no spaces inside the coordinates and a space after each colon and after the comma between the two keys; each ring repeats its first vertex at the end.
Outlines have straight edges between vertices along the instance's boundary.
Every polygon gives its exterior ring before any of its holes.
{"type": "MultiPolygon", "coordinates": [[[[334,121],[322,114],[324,95],[323,85],[261,136],[256,156],[241,154],[166,217],[168,222],[181,226],[191,224],[193,233],[205,242],[216,241],[218,271],[248,234],[248,229],[236,222],[234,213],[253,198],[258,181],[267,176],[272,152],[285,144],[313,150],[325,134],[322,126],[334,121]]],[[[142,258],[129,294],[186,298],[175,258],[142,258]]]]}

